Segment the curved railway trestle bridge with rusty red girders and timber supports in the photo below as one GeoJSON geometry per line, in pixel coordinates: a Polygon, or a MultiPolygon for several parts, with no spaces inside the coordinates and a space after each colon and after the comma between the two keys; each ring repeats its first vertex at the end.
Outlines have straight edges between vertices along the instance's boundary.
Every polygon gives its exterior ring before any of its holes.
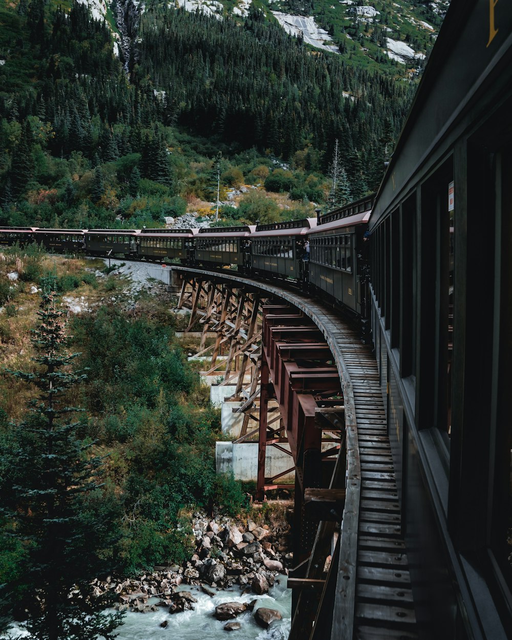
{"type": "Polygon", "coordinates": [[[371,346],[323,303],[228,271],[172,267],[198,356],[257,440],[257,499],[294,471],[293,640],[419,637],[386,411],[371,346]],[[209,346],[206,336],[215,334],[209,346]],[[221,359],[220,353],[225,353],[221,359]],[[266,476],[266,452],[290,456],[266,476]]]}

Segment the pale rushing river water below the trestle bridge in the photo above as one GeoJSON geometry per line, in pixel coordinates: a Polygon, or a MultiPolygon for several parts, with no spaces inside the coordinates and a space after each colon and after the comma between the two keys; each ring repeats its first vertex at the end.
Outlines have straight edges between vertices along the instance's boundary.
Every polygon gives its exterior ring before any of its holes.
{"type": "MultiPolygon", "coordinates": [[[[291,589],[286,588],[285,576],[278,577],[280,584],[275,584],[266,596],[255,596],[253,593],[240,596],[239,589],[224,589],[216,591],[214,596],[202,593],[197,587],[182,586],[180,590],[191,591],[197,598],[195,611],[184,611],[171,615],[167,607],[160,607],[154,613],[128,612],[124,618],[124,625],[118,628],[117,640],[218,640],[227,636],[224,630],[226,622],[220,622],[214,618],[213,613],[217,605],[223,602],[251,602],[257,600],[255,610],[259,607],[277,609],[283,616],[269,629],[259,627],[251,611],[246,611],[236,618],[241,623],[240,630],[233,632],[236,640],[287,640],[291,624],[291,589]],[[167,627],[160,625],[167,621],[167,627]]],[[[157,598],[154,598],[157,602],[157,598]]],[[[152,600],[149,600],[152,604],[152,600]]],[[[13,627],[12,634],[20,632],[13,627]]],[[[25,634],[20,633],[20,637],[25,634]]]]}

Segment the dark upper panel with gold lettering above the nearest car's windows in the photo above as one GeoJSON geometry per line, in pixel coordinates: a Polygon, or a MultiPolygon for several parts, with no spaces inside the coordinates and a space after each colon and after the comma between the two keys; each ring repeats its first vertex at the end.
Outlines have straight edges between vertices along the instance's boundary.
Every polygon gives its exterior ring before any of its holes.
{"type": "MultiPolygon", "coordinates": [[[[460,131],[483,109],[485,96],[497,95],[497,87],[506,92],[508,77],[496,69],[510,55],[512,3],[499,3],[496,11],[500,24],[491,38],[489,3],[452,0],[378,189],[371,229],[451,152],[460,131]]],[[[486,108],[491,111],[493,104],[486,108]]]]}

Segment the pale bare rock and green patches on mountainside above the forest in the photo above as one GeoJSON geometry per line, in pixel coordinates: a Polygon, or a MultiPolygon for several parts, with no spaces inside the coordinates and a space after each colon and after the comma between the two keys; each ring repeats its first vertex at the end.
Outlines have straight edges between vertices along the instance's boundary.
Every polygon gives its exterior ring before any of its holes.
{"type": "MultiPolygon", "coordinates": [[[[145,4],[139,0],[114,0],[110,6],[106,0],[80,1],[88,4],[97,19],[108,18],[111,8],[117,25],[113,33],[128,61],[145,4]]],[[[243,20],[252,0],[175,0],[175,5],[218,19],[243,20]]],[[[449,0],[337,0],[334,4],[330,0],[262,0],[254,6],[286,33],[316,49],[349,53],[360,64],[385,67],[388,60],[394,60],[417,70],[435,41],[449,0]]]]}

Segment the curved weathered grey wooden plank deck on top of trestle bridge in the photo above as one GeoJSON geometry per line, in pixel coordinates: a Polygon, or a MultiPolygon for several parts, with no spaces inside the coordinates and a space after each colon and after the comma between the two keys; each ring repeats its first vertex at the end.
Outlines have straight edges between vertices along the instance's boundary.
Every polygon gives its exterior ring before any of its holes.
{"type": "MultiPolygon", "coordinates": [[[[323,593],[317,596],[317,605],[313,607],[316,615],[312,613],[312,599],[316,596],[304,594],[307,600],[302,605],[299,601],[290,637],[417,638],[397,485],[379,373],[371,346],[362,344],[358,333],[335,310],[298,291],[255,282],[226,271],[180,267],[176,270],[203,279],[238,282],[240,286],[268,292],[299,308],[323,333],[340,374],[345,399],[347,480],[335,593],[329,593],[333,580],[326,579],[323,593]],[[324,622],[327,612],[324,600],[330,602],[330,606],[333,604],[332,624],[324,622]]],[[[344,483],[345,469],[337,469],[335,474],[333,487],[344,483]]],[[[326,526],[319,528],[319,547],[325,547],[325,542],[321,543],[323,530],[331,531],[326,526]]],[[[314,568],[318,566],[315,553],[314,548],[306,574],[310,580],[322,577],[314,568]]]]}

